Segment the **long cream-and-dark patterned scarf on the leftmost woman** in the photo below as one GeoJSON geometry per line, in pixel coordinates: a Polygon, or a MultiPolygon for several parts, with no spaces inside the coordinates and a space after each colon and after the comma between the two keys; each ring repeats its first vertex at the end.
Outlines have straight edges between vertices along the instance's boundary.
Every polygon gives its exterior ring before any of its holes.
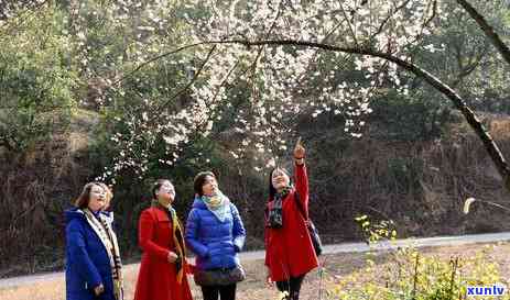
{"type": "Polygon", "coordinates": [[[113,295],[117,300],[123,300],[123,280],[122,280],[122,263],[120,260],[119,244],[117,235],[111,227],[111,218],[98,214],[98,218],[89,209],[84,209],[83,212],[88,224],[96,232],[106,248],[108,258],[110,259],[111,277],[113,279],[113,295]]]}

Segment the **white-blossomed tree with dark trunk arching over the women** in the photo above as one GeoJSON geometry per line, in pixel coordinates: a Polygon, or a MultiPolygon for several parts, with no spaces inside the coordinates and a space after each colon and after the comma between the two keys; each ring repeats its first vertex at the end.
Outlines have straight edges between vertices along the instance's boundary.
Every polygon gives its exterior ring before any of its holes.
{"type": "MultiPolygon", "coordinates": [[[[25,2],[33,8],[51,1],[25,2]]],[[[504,1],[490,4],[503,13],[504,1]]],[[[100,105],[116,107],[127,81],[142,86],[150,80],[138,77],[143,68],[173,66],[182,74],[170,91],[161,87],[166,95],[143,88],[128,95],[143,101],[135,110],[122,103],[126,113],[116,118],[124,127],[111,137],[118,155],[102,179],[126,168],[142,177],[158,144],[166,152],[159,162],[174,164],[191,136],[215,133],[223,118],[234,122],[224,131],[238,142],[230,149],[234,157],[256,149],[261,160],[278,158],[303,113],[341,114],[345,131],[356,138],[375,96],[388,88],[406,95],[414,76],[463,113],[510,182],[507,162],[465,99],[415,62],[419,52],[443,51],[427,37],[455,11],[469,14],[509,62],[508,47],[468,1],[70,0],[66,7],[73,15],[67,33],[74,40],[73,59],[82,74],[99,78],[91,86],[100,105]],[[184,35],[173,34],[176,27],[184,35]],[[123,43],[90,46],[98,32],[123,43]]]]}

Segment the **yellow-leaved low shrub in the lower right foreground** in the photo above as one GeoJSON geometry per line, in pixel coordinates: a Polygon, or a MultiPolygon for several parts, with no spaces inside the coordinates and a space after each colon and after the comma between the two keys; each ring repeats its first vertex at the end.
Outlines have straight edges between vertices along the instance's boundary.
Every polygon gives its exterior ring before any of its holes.
{"type": "MultiPolygon", "coordinates": [[[[371,225],[369,219],[356,219],[368,233],[370,245],[393,240],[392,222],[383,221],[371,225]]],[[[376,266],[369,253],[367,267],[343,278],[328,291],[329,299],[338,300],[446,300],[465,299],[467,286],[507,285],[499,267],[490,259],[490,246],[484,247],[471,257],[427,256],[414,246],[398,248],[390,253],[390,263],[376,266]]],[[[510,299],[506,295],[500,299],[510,299]]]]}

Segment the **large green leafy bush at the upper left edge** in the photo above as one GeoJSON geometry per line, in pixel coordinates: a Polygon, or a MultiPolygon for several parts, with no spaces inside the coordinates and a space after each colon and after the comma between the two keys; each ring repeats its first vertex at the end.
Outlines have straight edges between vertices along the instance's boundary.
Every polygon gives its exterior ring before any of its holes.
{"type": "Polygon", "coordinates": [[[0,146],[23,153],[67,129],[76,105],[77,74],[64,15],[42,9],[0,30],[0,146]],[[12,31],[6,33],[4,31],[12,31]]]}

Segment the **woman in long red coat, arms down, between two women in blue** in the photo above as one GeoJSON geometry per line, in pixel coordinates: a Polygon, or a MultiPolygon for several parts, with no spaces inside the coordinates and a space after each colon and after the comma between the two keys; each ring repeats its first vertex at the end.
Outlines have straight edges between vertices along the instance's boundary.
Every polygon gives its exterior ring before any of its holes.
{"type": "Polygon", "coordinates": [[[159,179],[152,196],[151,208],[140,215],[143,256],[134,300],[192,300],[183,231],[172,208],[175,189],[170,180],[159,179]]]}

